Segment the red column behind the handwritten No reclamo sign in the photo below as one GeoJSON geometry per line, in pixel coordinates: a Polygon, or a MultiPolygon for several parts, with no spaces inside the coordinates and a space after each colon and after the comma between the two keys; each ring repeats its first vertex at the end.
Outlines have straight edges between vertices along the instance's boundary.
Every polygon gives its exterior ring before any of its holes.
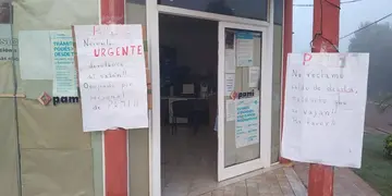
{"type": "MultiPolygon", "coordinates": [[[[338,52],[340,0],[314,1],[313,52],[338,52]],[[334,45],[334,46],[333,46],[334,45]]],[[[309,196],[333,195],[333,168],[310,164],[309,196]]]]}

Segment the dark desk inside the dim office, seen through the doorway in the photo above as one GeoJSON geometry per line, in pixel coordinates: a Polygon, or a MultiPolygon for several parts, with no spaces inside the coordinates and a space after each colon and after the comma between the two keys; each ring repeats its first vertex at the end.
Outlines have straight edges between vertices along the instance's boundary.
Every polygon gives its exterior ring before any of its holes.
{"type": "MultiPolygon", "coordinates": [[[[208,100],[209,98],[196,97],[161,97],[161,115],[164,123],[173,123],[173,107],[172,103],[177,100],[208,100]]],[[[177,118],[177,123],[187,123],[187,118],[177,118]]]]}

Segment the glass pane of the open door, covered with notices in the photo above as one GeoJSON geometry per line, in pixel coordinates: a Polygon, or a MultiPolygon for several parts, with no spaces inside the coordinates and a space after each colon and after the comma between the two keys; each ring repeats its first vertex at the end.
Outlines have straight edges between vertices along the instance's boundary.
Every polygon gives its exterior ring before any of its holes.
{"type": "Polygon", "coordinates": [[[224,167],[260,157],[261,36],[225,29],[224,167]]]}

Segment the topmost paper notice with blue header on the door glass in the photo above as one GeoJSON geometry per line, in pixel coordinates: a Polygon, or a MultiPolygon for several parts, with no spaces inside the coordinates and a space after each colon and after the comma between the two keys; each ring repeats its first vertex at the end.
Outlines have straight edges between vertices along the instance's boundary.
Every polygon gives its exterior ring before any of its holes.
{"type": "Polygon", "coordinates": [[[254,37],[253,33],[241,32],[235,34],[235,50],[237,66],[254,65],[254,37]]]}

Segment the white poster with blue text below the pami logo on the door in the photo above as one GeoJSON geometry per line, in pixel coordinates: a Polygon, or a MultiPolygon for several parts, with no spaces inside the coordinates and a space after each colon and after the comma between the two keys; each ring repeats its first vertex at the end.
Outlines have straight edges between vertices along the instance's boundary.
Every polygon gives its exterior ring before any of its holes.
{"type": "Polygon", "coordinates": [[[259,98],[236,100],[236,148],[259,143],[259,98]]]}

